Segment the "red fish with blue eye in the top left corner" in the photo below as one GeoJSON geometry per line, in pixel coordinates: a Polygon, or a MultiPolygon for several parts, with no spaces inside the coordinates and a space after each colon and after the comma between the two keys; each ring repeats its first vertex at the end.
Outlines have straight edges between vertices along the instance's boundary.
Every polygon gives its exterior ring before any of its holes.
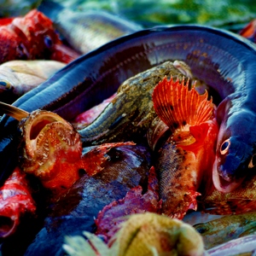
{"type": "Polygon", "coordinates": [[[0,26],[0,63],[12,60],[51,59],[65,63],[79,54],[62,44],[49,20],[37,9],[0,26]]]}

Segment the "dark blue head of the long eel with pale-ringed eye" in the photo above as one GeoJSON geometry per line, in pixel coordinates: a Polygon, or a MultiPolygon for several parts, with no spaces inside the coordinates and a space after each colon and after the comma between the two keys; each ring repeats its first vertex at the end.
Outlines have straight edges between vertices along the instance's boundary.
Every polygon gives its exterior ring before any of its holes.
{"type": "Polygon", "coordinates": [[[237,111],[220,125],[212,179],[218,191],[236,189],[255,166],[256,116],[249,110],[237,111]]]}

